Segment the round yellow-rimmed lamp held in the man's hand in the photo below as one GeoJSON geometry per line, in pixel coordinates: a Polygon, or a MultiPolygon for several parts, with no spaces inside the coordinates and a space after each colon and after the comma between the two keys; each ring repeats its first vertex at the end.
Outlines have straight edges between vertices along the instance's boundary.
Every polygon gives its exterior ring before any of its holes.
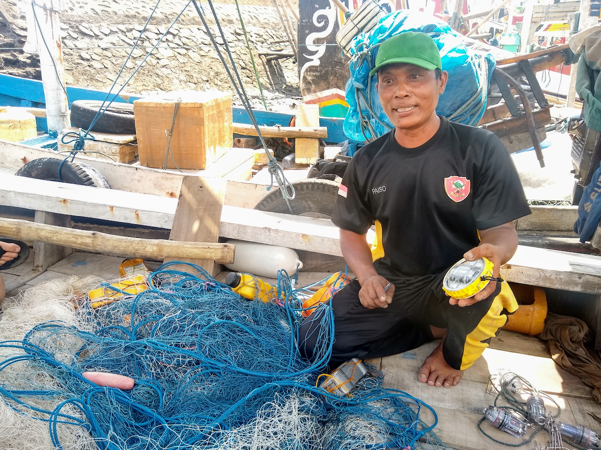
{"type": "Polygon", "coordinates": [[[486,258],[475,261],[462,259],[448,269],[442,280],[442,290],[458,299],[476,295],[490,283],[489,278],[493,277],[492,268],[493,263],[486,258]],[[486,278],[483,280],[483,277],[486,278]]]}

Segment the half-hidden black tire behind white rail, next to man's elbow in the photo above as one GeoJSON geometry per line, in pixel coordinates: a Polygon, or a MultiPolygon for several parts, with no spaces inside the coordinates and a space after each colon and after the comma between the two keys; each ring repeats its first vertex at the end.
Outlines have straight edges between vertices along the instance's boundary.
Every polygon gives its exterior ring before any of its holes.
{"type": "MultiPolygon", "coordinates": [[[[308,178],[292,183],[296,196],[290,200],[294,215],[331,218],[338,197],[340,182],[328,179],[308,178]]],[[[273,187],[254,209],[259,211],[290,214],[290,209],[277,187],[273,187]]]]}

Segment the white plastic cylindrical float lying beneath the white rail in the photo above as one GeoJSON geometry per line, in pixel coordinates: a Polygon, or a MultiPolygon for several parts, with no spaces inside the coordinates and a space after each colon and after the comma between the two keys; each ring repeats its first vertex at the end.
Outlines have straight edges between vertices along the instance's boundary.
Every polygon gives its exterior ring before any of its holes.
{"type": "Polygon", "coordinates": [[[257,277],[277,278],[278,271],[281,269],[291,276],[296,272],[296,266],[302,268],[298,254],[291,248],[236,239],[227,242],[236,245],[234,262],[225,265],[234,272],[248,272],[257,277]]]}

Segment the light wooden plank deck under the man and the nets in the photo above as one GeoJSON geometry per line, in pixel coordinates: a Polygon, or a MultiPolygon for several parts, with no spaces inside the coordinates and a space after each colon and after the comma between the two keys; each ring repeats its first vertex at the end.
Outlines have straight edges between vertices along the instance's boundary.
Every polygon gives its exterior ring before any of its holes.
{"type": "MultiPolygon", "coordinates": [[[[36,286],[42,281],[62,278],[67,275],[96,275],[112,280],[118,278],[118,266],[123,259],[98,254],[76,252],[47,269],[43,274],[32,274],[31,262],[15,269],[2,271],[8,296],[16,295],[20,289],[36,286]],[[23,284],[25,283],[25,284],[23,284]]],[[[157,263],[148,263],[156,268],[157,263]]],[[[227,272],[221,272],[218,280],[222,281],[227,272]]],[[[301,272],[299,284],[304,286],[322,280],[329,274],[323,272],[301,272]]],[[[466,370],[463,380],[454,388],[433,388],[417,381],[417,370],[424,358],[438,345],[438,341],[425,344],[418,349],[400,355],[373,359],[370,362],[379,367],[385,374],[384,386],[401,389],[417,397],[436,410],[438,415],[438,436],[448,446],[456,450],[506,449],[504,445],[492,442],[478,431],[477,424],[482,417],[482,409],[493,403],[495,396],[486,394],[490,374],[498,373],[504,368],[519,374],[532,383],[540,391],[551,395],[561,407],[560,420],[570,424],[585,425],[600,431],[601,423],[593,415],[601,416],[601,406],[591,398],[591,388],[581,380],[559,367],[552,361],[544,341],[535,337],[501,330],[498,337],[492,340],[490,348],[483,356],[466,370]]],[[[549,410],[553,410],[546,402],[549,410]]],[[[427,412],[423,413],[426,422],[432,420],[427,412]]],[[[486,424],[487,433],[496,439],[510,443],[520,443],[507,433],[486,424]]],[[[526,436],[529,436],[530,431],[526,436]]],[[[548,433],[541,431],[525,449],[540,449],[548,445],[548,433]]],[[[569,446],[569,445],[566,445],[569,446]]]]}

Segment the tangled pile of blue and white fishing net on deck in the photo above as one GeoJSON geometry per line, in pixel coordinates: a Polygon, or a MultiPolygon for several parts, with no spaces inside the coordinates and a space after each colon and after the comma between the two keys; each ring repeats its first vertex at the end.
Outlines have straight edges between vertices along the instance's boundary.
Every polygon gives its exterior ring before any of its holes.
{"type": "MultiPolygon", "coordinates": [[[[248,301],[198,266],[191,275],[173,264],[148,275],[144,292],[95,310],[85,295],[73,306],[77,292],[97,286],[76,277],[7,299],[0,319],[2,448],[444,446],[432,432],[432,408],[382,388],[373,367],[352,395],[316,387],[332,343],[323,343],[314,364],[299,356],[299,291],[288,290],[283,305],[248,301]],[[40,311],[48,314],[42,323],[40,311]],[[25,332],[27,320],[33,323],[25,332]],[[135,386],[100,387],[85,371],[129,376],[135,386]],[[424,410],[432,425],[420,418],[424,410]]],[[[331,310],[324,320],[332,327],[331,310]]]]}

